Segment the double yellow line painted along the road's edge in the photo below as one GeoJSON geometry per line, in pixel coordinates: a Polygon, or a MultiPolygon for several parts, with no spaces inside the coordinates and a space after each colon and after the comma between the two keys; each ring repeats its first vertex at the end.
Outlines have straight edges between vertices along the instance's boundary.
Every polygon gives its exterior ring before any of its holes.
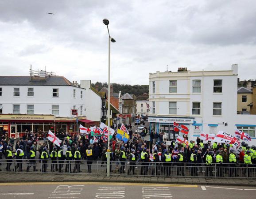
{"type": "Polygon", "coordinates": [[[114,183],[114,182],[18,182],[18,183],[0,183],[0,185],[47,185],[47,184],[91,184],[91,185],[126,185],[126,186],[153,186],[153,187],[185,187],[197,188],[193,184],[151,184],[151,183],[114,183]]]}

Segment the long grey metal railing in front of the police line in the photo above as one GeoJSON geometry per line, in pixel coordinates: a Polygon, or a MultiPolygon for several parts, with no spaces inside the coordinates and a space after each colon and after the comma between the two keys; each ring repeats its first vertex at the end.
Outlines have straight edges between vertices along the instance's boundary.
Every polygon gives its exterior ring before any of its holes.
{"type": "MultiPolygon", "coordinates": [[[[106,161],[0,159],[0,172],[106,175],[106,161]]],[[[256,178],[256,164],[161,163],[111,161],[111,175],[210,178],[256,178]]]]}

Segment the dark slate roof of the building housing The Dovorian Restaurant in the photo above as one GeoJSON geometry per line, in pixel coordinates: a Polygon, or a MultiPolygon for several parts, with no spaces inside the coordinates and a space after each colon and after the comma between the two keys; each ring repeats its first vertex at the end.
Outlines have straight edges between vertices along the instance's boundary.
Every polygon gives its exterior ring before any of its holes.
{"type": "Polygon", "coordinates": [[[47,76],[47,78],[31,76],[0,76],[0,85],[75,86],[62,76],[47,76]]]}

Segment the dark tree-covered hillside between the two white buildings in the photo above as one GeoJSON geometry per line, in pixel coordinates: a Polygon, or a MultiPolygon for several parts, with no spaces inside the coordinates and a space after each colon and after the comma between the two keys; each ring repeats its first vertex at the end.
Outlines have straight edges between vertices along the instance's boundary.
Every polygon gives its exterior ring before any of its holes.
{"type": "MultiPolygon", "coordinates": [[[[96,82],[92,83],[92,86],[99,86],[99,90],[101,90],[104,86],[108,88],[108,83],[96,82]]],[[[136,100],[147,100],[148,99],[148,85],[129,85],[129,84],[118,84],[112,83],[113,92],[119,93],[122,91],[122,95],[125,93],[133,94],[136,97],[136,100]]]]}

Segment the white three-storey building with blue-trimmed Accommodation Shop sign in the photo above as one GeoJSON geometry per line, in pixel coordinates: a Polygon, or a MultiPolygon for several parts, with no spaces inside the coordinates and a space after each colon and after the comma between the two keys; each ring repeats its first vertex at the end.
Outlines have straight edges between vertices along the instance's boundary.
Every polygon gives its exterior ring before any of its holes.
{"type": "Polygon", "coordinates": [[[225,71],[159,72],[149,74],[150,129],[164,131],[171,141],[178,135],[173,122],[189,128],[189,139],[200,132],[235,128],[248,132],[256,143],[256,116],[237,115],[237,64],[225,71]]]}

